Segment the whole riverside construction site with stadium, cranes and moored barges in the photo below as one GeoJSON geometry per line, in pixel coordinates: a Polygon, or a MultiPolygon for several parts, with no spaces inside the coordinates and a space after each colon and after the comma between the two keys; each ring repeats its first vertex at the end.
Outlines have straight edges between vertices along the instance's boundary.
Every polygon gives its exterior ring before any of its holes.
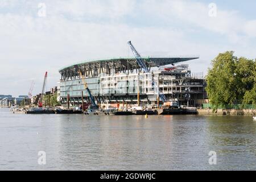
{"type": "Polygon", "coordinates": [[[142,57],[130,41],[127,44],[134,57],[83,61],[61,68],[58,86],[49,92],[45,92],[46,72],[42,92],[32,97],[35,84],[32,82],[29,109],[22,111],[27,114],[109,114],[109,111],[120,114],[118,111],[129,115],[159,114],[166,110],[167,114],[188,114],[196,113],[196,107],[207,102],[203,72],[192,73],[189,65],[184,64],[199,56],[142,57]],[[53,96],[55,105],[50,103],[53,96]],[[58,102],[60,105],[56,105],[58,102]],[[191,108],[194,109],[191,111],[191,108]]]}

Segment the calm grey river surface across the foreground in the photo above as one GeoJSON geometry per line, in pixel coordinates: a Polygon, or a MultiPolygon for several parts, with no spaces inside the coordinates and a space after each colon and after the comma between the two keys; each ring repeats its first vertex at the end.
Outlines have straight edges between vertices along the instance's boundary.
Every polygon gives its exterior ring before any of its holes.
{"type": "Polygon", "coordinates": [[[252,117],[22,115],[0,109],[0,170],[255,170],[252,117]],[[38,152],[46,152],[46,165],[38,152]],[[210,151],[217,164],[210,165],[210,151]]]}

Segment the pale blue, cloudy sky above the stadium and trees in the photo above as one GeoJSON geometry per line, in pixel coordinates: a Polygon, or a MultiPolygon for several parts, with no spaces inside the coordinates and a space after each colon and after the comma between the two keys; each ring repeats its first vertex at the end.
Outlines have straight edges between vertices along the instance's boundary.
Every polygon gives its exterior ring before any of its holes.
{"type": "Polygon", "coordinates": [[[256,57],[256,1],[0,0],[0,94],[40,93],[59,69],[86,60],[199,55],[184,62],[207,73],[220,52],[256,57]]]}

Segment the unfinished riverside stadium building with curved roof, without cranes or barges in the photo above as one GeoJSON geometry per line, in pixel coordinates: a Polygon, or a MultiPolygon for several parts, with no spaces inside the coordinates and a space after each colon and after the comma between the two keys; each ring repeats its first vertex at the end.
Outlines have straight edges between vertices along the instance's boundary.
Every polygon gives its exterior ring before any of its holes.
{"type": "Polygon", "coordinates": [[[159,106],[176,101],[179,105],[199,106],[207,97],[203,73],[192,73],[187,64],[176,65],[199,57],[140,59],[143,63],[139,63],[138,57],[118,58],[84,61],[60,69],[61,104],[79,106],[94,100],[106,108],[109,105],[159,106]]]}

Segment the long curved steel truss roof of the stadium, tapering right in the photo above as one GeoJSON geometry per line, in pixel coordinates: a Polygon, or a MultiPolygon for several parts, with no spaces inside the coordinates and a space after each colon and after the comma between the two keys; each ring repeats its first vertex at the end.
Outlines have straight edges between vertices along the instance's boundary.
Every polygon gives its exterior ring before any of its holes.
{"type": "MultiPolygon", "coordinates": [[[[143,57],[142,60],[150,70],[153,67],[160,67],[169,64],[176,64],[184,61],[199,59],[199,56],[189,56],[189,57],[143,57]]],[[[142,71],[142,68],[138,65],[135,58],[125,58],[120,57],[117,59],[105,59],[105,60],[94,60],[94,61],[84,61],[82,63],[77,63],[70,65],[68,67],[61,68],[59,70],[61,75],[61,80],[69,80],[80,78],[79,69],[82,75],[85,77],[96,77],[102,73],[110,74],[111,70],[115,73],[125,73],[134,70],[142,71]]]]}

